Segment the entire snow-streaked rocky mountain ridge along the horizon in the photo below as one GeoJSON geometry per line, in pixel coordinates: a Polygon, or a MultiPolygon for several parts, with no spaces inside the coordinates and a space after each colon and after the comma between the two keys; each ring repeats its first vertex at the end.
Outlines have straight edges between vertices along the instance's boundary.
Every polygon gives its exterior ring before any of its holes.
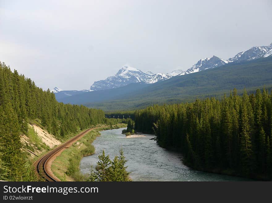
{"type": "MultiPolygon", "coordinates": [[[[196,73],[199,71],[218,68],[220,66],[232,63],[232,62],[241,62],[241,61],[250,61],[253,59],[268,57],[272,55],[272,43],[269,46],[260,46],[260,47],[252,47],[249,50],[242,51],[237,53],[234,57],[229,58],[228,60],[221,59],[219,57],[213,56],[211,58],[203,58],[199,60],[196,64],[191,66],[186,71],[183,70],[174,70],[170,74],[164,73],[152,73],[151,71],[143,72],[139,69],[123,66],[114,76],[110,76],[104,80],[99,80],[94,82],[89,90],[78,91],[76,94],[84,92],[84,91],[100,91],[100,90],[108,90],[114,89],[118,87],[123,87],[131,83],[143,82],[146,84],[156,83],[158,81],[167,80],[174,76],[181,76],[191,73],[196,73]]],[[[62,94],[63,96],[71,96],[74,95],[73,92],[62,91],[61,89],[55,87],[52,90],[55,94],[62,94]],[[60,93],[62,92],[62,93],[60,93]],[[66,94],[65,94],[66,92],[66,94]]]]}

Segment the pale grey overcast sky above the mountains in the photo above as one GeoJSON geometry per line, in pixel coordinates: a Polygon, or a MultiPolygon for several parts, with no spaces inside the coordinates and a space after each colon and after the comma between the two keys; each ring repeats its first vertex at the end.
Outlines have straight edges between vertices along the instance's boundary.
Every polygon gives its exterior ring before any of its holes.
{"type": "Polygon", "coordinates": [[[0,61],[43,89],[89,89],[125,64],[170,73],[269,45],[271,11],[271,0],[0,0],[0,61]]]}

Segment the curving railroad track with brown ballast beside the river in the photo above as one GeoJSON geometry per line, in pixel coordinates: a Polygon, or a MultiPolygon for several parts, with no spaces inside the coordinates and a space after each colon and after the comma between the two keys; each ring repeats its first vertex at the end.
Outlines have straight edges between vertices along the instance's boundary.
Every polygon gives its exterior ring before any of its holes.
{"type": "MultiPolygon", "coordinates": [[[[107,127],[107,126],[105,126],[107,127]]],[[[97,128],[101,128],[101,127],[97,127],[97,128]]],[[[46,181],[60,181],[58,179],[53,178],[51,175],[52,172],[49,171],[49,168],[47,167],[48,162],[50,161],[50,159],[52,159],[52,157],[57,154],[57,152],[59,152],[60,150],[64,149],[66,146],[68,146],[69,144],[74,143],[75,141],[77,141],[80,137],[82,137],[83,135],[85,135],[86,133],[88,133],[89,131],[93,130],[93,129],[97,129],[97,128],[90,128],[87,129],[81,133],[79,133],[78,135],[76,135],[75,137],[71,138],[70,140],[68,140],[67,142],[65,142],[64,144],[58,146],[56,149],[53,149],[51,151],[49,151],[48,154],[45,154],[43,157],[41,157],[40,159],[38,159],[35,163],[34,166],[36,168],[36,172],[37,174],[39,174],[40,176],[42,176],[43,178],[45,178],[46,181]],[[50,174],[51,173],[51,174],[50,174]]]]}

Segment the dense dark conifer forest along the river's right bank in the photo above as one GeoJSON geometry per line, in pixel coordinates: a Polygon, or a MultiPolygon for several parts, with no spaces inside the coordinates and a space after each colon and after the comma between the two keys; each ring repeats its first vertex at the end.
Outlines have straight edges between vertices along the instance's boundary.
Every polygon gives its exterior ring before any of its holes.
{"type": "Polygon", "coordinates": [[[154,105],[135,113],[135,129],[184,154],[198,170],[272,178],[272,95],[266,89],[223,99],[154,105]]]}

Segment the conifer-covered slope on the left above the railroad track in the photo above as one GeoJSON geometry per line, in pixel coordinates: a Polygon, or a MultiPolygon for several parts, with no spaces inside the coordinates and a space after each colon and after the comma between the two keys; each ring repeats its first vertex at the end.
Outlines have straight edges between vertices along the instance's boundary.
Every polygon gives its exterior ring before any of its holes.
{"type": "Polygon", "coordinates": [[[16,70],[0,62],[0,180],[30,180],[20,135],[36,119],[49,133],[63,137],[90,125],[105,123],[104,112],[58,103],[55,95],[36,87],[16,70]]]}

